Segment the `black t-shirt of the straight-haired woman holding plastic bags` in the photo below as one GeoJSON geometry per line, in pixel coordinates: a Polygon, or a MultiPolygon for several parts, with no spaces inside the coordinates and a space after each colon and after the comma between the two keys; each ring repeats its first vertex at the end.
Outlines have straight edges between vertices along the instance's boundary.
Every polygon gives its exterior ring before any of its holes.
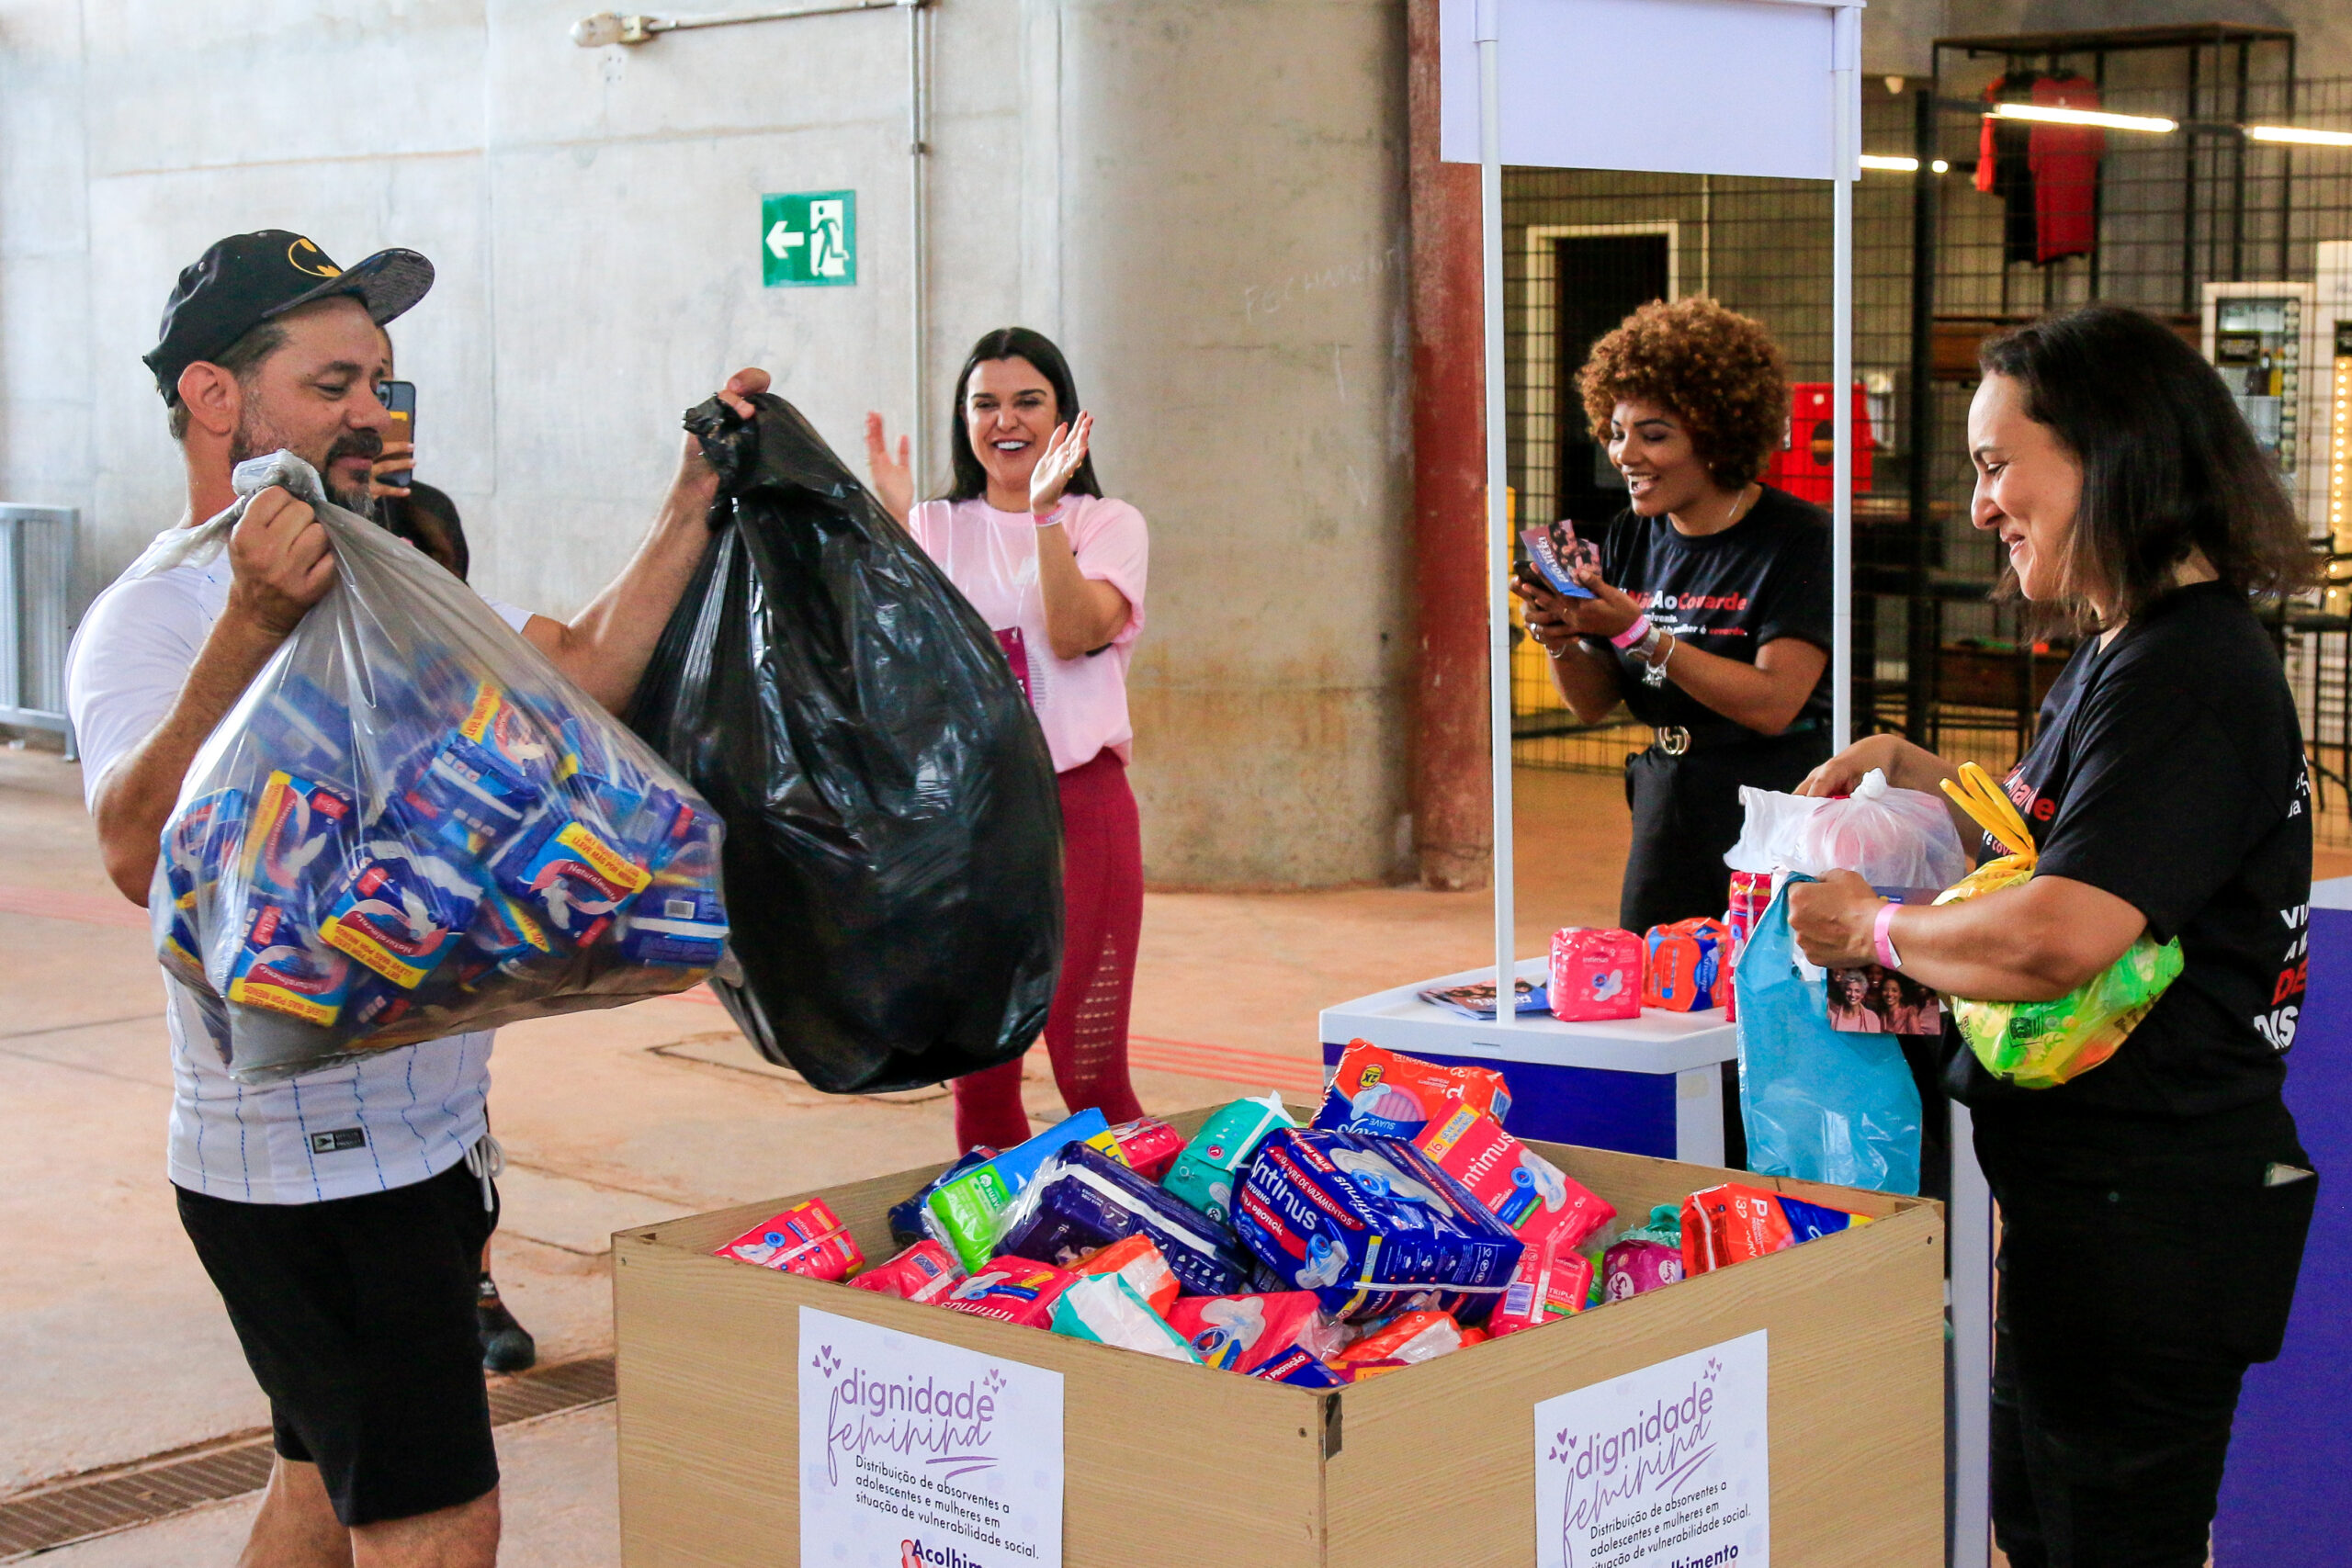
{"type": "Polygon", "coordinates": [[[2312,788],[2296,701],[2246,597],[2180,588],[2110,646],[2086,639],[2009,797],[2037,875],[2133,905],[2159,943],[2180,938],[2183,971],[2107,1063],[2058,1088],[1994,1079],[1952,1030],[1952,1093],[2018,1126],[2204,1117],[2274,1095],[2303,1006],[2312,788]]]}

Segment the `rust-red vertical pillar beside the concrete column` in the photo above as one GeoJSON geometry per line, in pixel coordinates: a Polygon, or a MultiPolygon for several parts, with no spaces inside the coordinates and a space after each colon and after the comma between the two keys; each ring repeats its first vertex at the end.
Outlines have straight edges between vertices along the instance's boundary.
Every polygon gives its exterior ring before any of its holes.
{"type": "Polygon", "coordinates": [[[1414,846],[1430,889],[1494,863],[1477,165],[1437,160],[1437,0],[1406,5],[1414,209],[1414,846]]]}

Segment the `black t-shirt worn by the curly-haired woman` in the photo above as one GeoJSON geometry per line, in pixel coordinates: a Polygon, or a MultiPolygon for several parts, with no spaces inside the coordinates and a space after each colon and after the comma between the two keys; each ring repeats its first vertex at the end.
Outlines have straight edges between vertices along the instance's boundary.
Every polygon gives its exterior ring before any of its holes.
{"type": "MultiPolygon", "coordinates": [[[[1745,517],[1703,536],[1628,508],[1602,536],[1602,576],[1632,595],[1651,623],[1745,665],[1773,637],[1830,646],[1830,515],[1785,489],[1766,484],[1745,517]]],[[[1675,682],[1644,686],[1649,665],[1632,654],[1616,651],[1616,661],[1625,708],[1642,724],[1731,724],[1675,682]]],[[[1823,665],[1797,722],[1828,717],[1830,670],[1823,665]]]]}

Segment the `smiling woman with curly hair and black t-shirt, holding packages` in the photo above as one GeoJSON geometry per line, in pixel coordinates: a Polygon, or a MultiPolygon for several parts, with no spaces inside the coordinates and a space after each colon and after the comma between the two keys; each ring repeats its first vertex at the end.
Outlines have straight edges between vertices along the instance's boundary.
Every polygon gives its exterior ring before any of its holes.
{"type": "Polygon", "coordinates": [[[1712,299],[1635,310],[1578,390],[1632,505],[1576,567],[1590,597],[1522,569],[1526,628],[1578,719],[1623,701],[1658,731],[1625,762],[1618,924],[1722,917],[1740,785],[1795,790],[1830,757],[1830,515],[1757,480],[1788,376],[1764,327],[1712,299]]]}

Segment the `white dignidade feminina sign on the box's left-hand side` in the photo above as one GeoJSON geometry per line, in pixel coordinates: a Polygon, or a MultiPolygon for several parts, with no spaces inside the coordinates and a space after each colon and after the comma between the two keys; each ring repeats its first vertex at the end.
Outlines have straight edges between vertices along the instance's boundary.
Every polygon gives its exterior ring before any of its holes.
{"type": "Polygon", "coordinates": [[[807,1568],[1061,1568],[1061,1373],[800,1309],[807,1568]]]}

